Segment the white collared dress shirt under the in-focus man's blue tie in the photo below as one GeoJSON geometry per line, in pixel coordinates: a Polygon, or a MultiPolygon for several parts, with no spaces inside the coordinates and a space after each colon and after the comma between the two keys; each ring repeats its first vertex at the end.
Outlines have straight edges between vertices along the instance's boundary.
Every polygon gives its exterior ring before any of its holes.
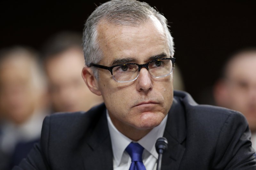
{"type": "MultiPolygon", "coordinates": [[[[131,165],[131,157],[125,151],[125,148],[132,141],[130,138],[124,136],[119,132],[112,123],[107,110],[108,129],[111,138],[112,150],[113,150],[113,168],[114,170],[128,170],[131,165]]],[[[167,115],[164,120],[157,127],[153,128],[145,137],[137,141],[144,147],[142,153],[143,164],[147,170],[156,170],[156,162],[158,153],[156,152],[155,143],[159,137],[163,137],[164,129],[167,121],[167,115]]]]}

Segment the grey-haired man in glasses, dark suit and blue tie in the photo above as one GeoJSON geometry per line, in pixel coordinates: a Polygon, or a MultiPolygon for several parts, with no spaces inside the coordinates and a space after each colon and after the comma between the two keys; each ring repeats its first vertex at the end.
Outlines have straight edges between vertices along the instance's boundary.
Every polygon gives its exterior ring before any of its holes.
{"type": "Polygon", "coordinates": [[[97,7],[85,23],[82,75],[104,103],[46,117],[40,144],[15,169],[155,170],[155,142],[163,136],[162,169],[256,169],[242,114],[173,92],[166,23],[139,1],[97,7]]]}

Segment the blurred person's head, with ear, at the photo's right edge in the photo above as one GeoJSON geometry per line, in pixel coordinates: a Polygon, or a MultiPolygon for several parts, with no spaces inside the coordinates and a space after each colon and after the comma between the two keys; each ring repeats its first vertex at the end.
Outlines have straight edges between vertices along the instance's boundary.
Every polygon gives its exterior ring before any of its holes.
{"type": "Polygon", "coordinates": [[[256,149],[256,48],[231,56],[214,85],[213,96],[216,105],[244,114],[252,132],[252,147],[256,149]]]}

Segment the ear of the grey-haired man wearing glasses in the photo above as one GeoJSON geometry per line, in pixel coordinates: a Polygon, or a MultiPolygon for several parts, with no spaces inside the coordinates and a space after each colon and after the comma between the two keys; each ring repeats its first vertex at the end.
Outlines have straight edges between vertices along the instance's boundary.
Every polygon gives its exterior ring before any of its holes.
{"type": "Polygon", "coordinates": [[[82,71],[82,77],[91,92],[100,96],[101,92],[99,90],[98,80],[94,77],[92,69],[85,66],[82,71]]]}

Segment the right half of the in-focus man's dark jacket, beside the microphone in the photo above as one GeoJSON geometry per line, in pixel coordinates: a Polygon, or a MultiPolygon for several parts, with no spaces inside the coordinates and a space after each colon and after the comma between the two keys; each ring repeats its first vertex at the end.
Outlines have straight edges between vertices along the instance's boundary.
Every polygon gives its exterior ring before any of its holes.
{"type": "Polygon", "coordinates": [[[186,92],[174,92],[164,136],[170,140],[166,169],[256,169],[244,115],[198,105],[186,92]]]}

